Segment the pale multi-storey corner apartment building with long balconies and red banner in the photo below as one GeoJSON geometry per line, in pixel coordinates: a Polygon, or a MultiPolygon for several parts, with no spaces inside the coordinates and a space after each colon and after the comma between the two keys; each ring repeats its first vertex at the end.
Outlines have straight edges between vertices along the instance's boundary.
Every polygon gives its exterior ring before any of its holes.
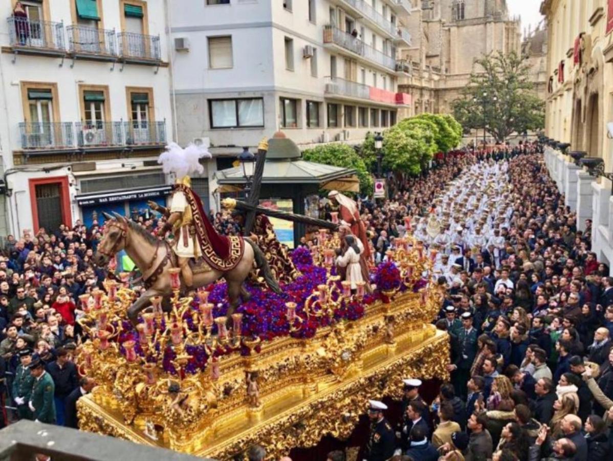
{"type": "Polygon", "coordinates": [[[409,69],[396,60],[396,50],[411,45],[403,26],[409,0],[172,3],[177,139],[210,142],[214,158],[192,182],[210,200],[213,174],[242,146],[277,130],[301,149],[357,143],[394,125],[397,110],[411,104],[397,91],[409,69]]]}

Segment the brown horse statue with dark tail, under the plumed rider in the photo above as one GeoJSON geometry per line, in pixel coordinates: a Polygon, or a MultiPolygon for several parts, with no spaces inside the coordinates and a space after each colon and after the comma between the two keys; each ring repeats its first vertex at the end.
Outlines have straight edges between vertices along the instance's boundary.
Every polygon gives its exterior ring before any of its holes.
{"type": "MultiPolygon", "coordinates": [[[[97,265],[104,266],[109,262],[109,258],[114,257],[121,250],[126,250],[126,254],[140,269],[147,290],[128,309],[128,317],[132,324],[136,325],[139,312],[150,305],[151,296],[172,295],[168,269],[176,267],[174,263],[176,258],[169,245],[148,233],[139,224],[118,214],[115,214],[113,218],[111,215],[104,213],[104,217],[107,219],[104,234],[93,260],[97,265]]],[[[245,300],[248,296],[243,288],[243,281],[254,268],[254,262],[257,268],[261,269],[268,287],[276,293],[281,293],[262,250],[251,239],[247,238],[243,241],[248,244],[245,244],[243,257],[234,269],[222,272],[211,268],[206,272],[194,274],[194,288],[209,285],[221,277],[226,279],[230,300],[227,311],[229,322],[230,315],[241,303],[241,295],[245,300]]],[[[185,288],[183,281],[181,281],[181,285],[185,288]]]]}

